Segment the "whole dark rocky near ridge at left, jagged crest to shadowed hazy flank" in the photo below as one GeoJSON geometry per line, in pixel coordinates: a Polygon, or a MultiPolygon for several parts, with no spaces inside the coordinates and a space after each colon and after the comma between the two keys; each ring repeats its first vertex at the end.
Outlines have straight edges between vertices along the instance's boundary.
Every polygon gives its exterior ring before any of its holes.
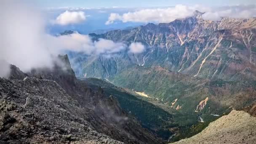
{"type": "Polygon", "coordinates": [[[0,78],[1,143],[161,143],[113,96],[78,80],[67,55],[58,59],[28,74],[12,65],[0,78]]]}

